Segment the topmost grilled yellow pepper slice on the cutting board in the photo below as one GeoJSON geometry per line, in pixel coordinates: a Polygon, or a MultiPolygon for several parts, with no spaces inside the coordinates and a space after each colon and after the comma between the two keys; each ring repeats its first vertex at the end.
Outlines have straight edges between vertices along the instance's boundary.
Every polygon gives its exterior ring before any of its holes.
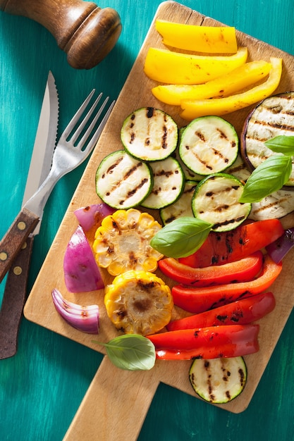
{"type": "Polygon", "coordinates": [[[235,27],[199,26],[156,20],[155,28],[166,46],[209,54],[235,54],[235,27]]]}

